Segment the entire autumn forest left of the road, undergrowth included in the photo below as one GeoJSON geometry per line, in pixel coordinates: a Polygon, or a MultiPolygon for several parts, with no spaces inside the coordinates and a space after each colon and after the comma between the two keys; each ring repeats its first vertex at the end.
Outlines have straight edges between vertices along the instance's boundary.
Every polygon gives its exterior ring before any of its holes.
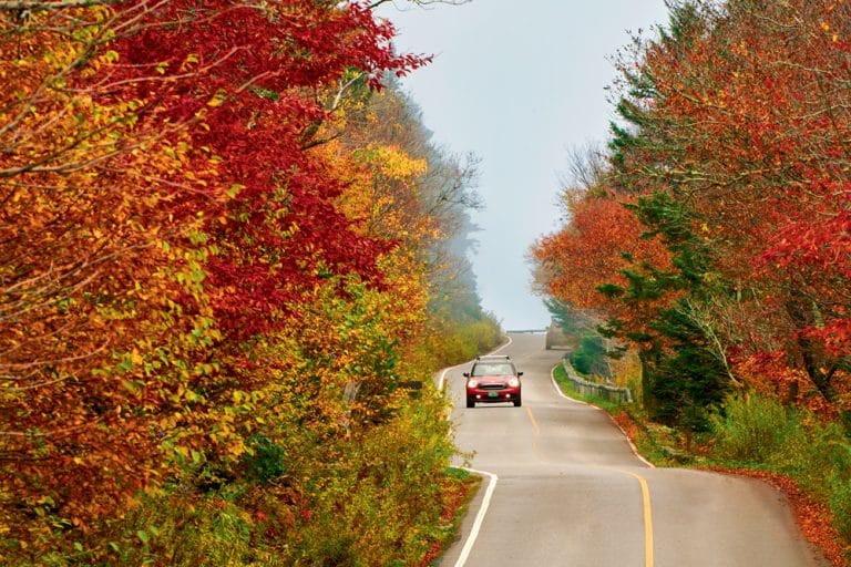
{"type": "Polygon", "coordinates": [[[378,3],[0,2],[0,563],[447,537],[431,375],[501,331],[478,159],[432,142],[378,3]]]}

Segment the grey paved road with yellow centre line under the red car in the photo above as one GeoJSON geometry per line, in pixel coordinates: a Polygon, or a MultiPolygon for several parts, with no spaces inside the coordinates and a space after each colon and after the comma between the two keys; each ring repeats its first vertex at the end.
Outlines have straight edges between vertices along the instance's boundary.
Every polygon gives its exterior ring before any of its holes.
{"type": "Polygon", "coordinates": [[[466,409],[469,364],[445,374],[455,441],[495,483],[483,481],[442,567],[828,565],[769,486],[635,456],[606,414],[557,393],[550,371],[562,353],[543,336],[513,334],[500,354],[525,372],[522,408],[466,409]]]}

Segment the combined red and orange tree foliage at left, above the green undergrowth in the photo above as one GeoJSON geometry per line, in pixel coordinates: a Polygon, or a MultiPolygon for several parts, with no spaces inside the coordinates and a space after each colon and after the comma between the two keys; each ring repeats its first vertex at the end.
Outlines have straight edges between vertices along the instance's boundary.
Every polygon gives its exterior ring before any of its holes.
{"type": "Polygon", "coordinates": [[[263,334],[329,278],[378,289],[393,246],[336,207],[319,95],[424,60],[359,2],[20,8],[0,3],[0,455],[25,542],[49,530],[21,517],[91,526],[246,451],[263,334]]]}

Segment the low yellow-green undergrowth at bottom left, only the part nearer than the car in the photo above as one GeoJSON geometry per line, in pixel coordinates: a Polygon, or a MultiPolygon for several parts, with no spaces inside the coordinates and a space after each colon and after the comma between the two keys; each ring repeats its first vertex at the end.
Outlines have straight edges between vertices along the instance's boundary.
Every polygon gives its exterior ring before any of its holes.
{"type": "Polygon", "coordinates": [[[443,487],[469,476],[449,467],[444,412],[432,389],[400,398],[392,420],[350,436],[296,427],[278,442],[255,436],[244,457],[250,474],[201,494],[188,472],[89,537],[85,550],[20,565],[416,565],[452,527],[443,487]],[[291,474],[281,443],[297,453],[291,474]]]}

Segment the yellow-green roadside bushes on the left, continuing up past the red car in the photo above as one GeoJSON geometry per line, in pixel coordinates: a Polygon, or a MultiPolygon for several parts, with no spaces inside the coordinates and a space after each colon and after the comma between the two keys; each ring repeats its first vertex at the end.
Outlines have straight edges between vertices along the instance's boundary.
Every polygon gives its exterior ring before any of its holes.
{"type": "MultiPolygon", "coordinates": [[[[410,353],[400,377],[427,382],[442,361],[469,360],[501,339],[490,317],[447,328],[410,353]]],[[[60,534],[66,545],[16,565],[396,567],[445,543],[453,523],[442,515],[443,488],[464,476],[448,468],[455,449],[445,399],[433,388],[416,400],[399,392],[380,415],[344,425],[299,413],[298,385],[281,381],[258,410],[265,419],[244,432],[247,452],[193,458],[124,517],[76,539],[60,534]]]]}

